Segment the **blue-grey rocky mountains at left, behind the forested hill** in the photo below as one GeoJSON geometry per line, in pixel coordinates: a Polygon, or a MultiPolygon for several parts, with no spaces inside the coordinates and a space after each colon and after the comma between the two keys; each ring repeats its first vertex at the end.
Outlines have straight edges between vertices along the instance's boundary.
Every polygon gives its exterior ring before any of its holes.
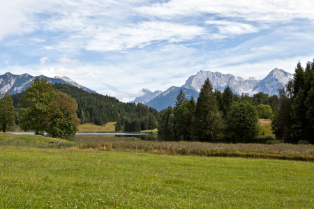
{"type": "MultiPolygon", "coordinates": [[[[96,93],[96,91],[93,91],[89,88],[86,88],[84,86],[81,86],[80,84],[77,84],[75,81],[69,79],[68,77],[45,77],[44,75],[36,76],[40,78],[45,78],[52,84],[55,83],[61,83],[61,84],[69,84],[71,86],[77,86],[78,88],[83,88],[85,91],[96,93]]],[[[13,75],[10,72],[6,72],[4,75],[0,75],[0,93],[6,93],[8,94],[15,94],[20,93],[25,90],[26,86],[30,86],[33,79],[36,77],[33,77],[27,73],[24,73],[22,75],[13,75]]]]}

